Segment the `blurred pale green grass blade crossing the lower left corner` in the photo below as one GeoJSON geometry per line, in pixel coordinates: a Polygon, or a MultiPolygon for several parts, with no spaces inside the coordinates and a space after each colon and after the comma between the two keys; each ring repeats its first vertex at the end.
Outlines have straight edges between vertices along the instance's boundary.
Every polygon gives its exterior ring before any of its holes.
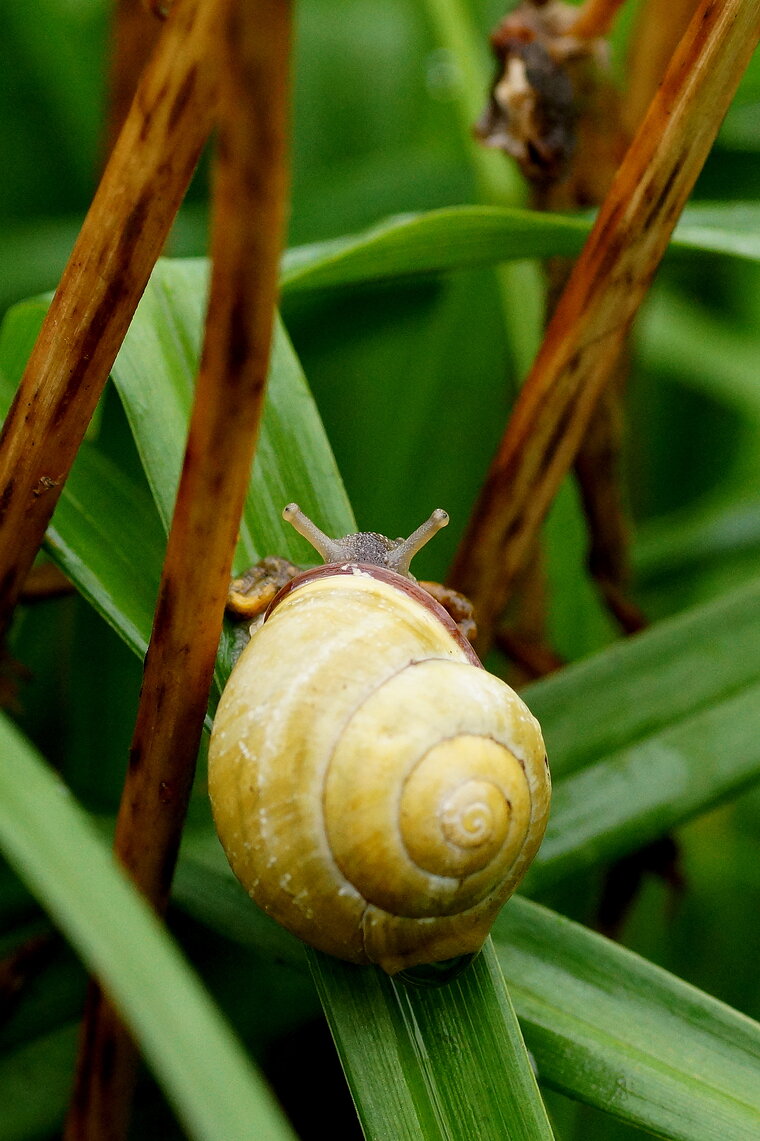
{"type": "Polygon", "coordinates": [[[292,1136],[159,920],[67,790],[0,719],[0,844],[103,980],[194,1138],[292,1136]]]}

